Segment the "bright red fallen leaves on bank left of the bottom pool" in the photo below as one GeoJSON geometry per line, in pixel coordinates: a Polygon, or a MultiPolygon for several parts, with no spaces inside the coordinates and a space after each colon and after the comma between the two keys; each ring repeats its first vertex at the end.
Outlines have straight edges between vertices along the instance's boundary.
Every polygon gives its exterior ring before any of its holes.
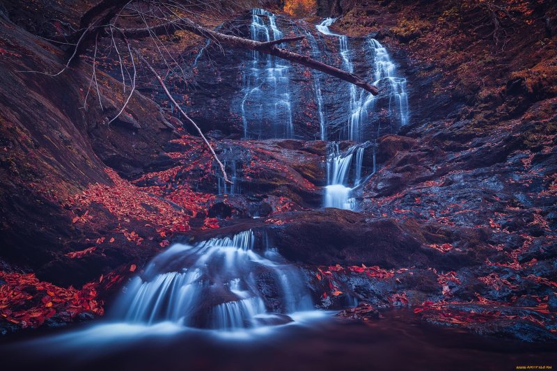
{"type": "Polygon", "coordinates": [[[0,319],[22,328],[40,326],[49,318],[71,321],[81,313],[102,315],[102,301],[97,301],[95,284],[81,290],[42,282],[35,274],[0,271],[0,319]]]}

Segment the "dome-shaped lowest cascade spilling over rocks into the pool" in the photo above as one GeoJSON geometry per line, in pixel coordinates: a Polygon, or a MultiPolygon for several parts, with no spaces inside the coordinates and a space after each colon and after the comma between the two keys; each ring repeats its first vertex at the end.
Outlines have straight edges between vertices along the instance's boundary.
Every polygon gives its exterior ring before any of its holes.
{"type": "Polygon", "coordinates": [[[114,315],[127,323],[237,330],[312,310],[299,271],[272,248],[256,252],[255,244],[254,233],[246,230],[171,246],[132,279],[114,315]]]}

